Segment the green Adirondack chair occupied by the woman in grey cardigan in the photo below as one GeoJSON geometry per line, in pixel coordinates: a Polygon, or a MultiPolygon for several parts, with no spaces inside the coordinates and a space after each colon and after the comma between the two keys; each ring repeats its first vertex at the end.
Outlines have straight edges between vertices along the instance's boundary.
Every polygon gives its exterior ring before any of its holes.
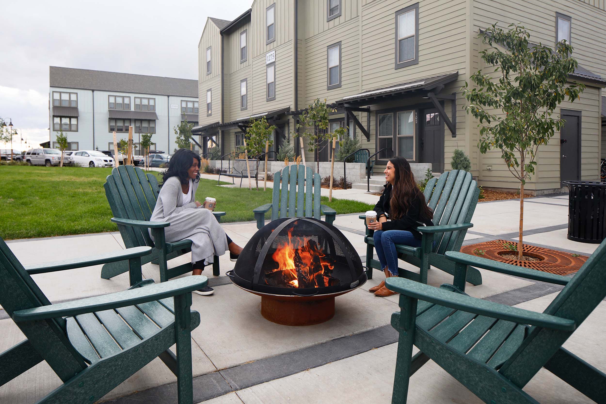
{"type": "MultiPolygon", "coordinates": [[[[160,189],[155,175],[147,174],[139,167],[118,166],[108,175],[105,187],[105,197],[112,208],[113,223],[118,224],[122,241],[127,248],[138,246],[155,247],[150,255],[143,258],[142,263],[148,262],[160,266],[160,281],[191,272],[191,263],[168,268],[167,261],[191,251],[191,240],[165,243],[164,227],[167,222],[150,222],[151,214],[156,206],[160,189]],[[147,231],[151,229],[154,243],[147,231]]],[[[217,220],[225,212],[213,212],[217,220]]],[[[105,264],[101,268],[101,278],[110,279],[128,271],[126,261],[105,264]]],[[[219,258],[213,262],[213,275],[219,275],[219,258]]]]}

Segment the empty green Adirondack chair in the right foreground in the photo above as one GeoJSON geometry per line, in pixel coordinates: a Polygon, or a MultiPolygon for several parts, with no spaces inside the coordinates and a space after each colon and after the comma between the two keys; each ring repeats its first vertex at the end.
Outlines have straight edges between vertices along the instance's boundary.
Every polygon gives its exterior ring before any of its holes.
{"type": "Polygon", "coordinates": [[[392,403],[406,403],[408,383],[428,359],[485,403],[533,403],[522,388],[545,368],[596,403],[606,403],[606,374],[562,348],[574,329],[606,297],[606,241],[573,278],[449,251],[455,279],[468,265],[502,274],[566,285],[544,312],[470,297],[456,286],[434,288],[404,278],[385,281],[400,292],[401,312],[391,316],[399,331],[392,403]],[[416,313],[416,315],[411,315],[416,313]],[[412,347],[420,352],[411,358],[412,347]]]}

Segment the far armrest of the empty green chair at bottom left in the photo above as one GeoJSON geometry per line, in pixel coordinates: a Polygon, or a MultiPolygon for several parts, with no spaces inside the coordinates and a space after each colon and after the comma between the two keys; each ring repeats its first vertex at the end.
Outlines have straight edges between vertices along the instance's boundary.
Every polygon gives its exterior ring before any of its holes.
{"type": "Polygon", "coordinates": [[[42,264],[25,266],[25,271],[30,275],[45,274],[46,272],[64,271],[64,269],[82,268],[110,262],[130,260],[130,258],[143,257],[150,254],[151,247],[132,247],[120,251],[106,252],[105,254],[92,255],[89,257],[71,258],[70,260],[55,261],[42,264]]]}

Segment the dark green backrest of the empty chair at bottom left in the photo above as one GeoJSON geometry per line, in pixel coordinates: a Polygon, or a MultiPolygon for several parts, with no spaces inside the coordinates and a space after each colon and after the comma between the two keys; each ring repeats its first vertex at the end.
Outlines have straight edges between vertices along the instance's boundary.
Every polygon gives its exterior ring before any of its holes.
{"type": "MultiPolygon", "coordinates": [[[[48,298],[2,238],[0,238],[0,305],[10,316],[18,310],[50,305],[48,298]]],[[[16,325],[64,382],[87,367],[67,339],[63,318],[22,322],[16,325]]]]}

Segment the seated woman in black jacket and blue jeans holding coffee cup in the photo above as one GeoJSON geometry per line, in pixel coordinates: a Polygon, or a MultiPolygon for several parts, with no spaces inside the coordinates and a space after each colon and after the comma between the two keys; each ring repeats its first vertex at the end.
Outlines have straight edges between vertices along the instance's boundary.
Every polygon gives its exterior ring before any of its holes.
{"type": "MultiPolygon", "coordinates": [[[[385,168],[385,190],[375,205],[377,221],[368,224],[374,230],[375,249],[385,277],[398,276],[398,252],[395,244],[420,247],[421,233],[415,228],[433,226],[433,212],[425,202],[425,196],[417,186],[410,164],[403,157],[394,157],[385,168]],[[387,220],[390,218],[390,221],[387,220]]],[[[390,296],[385,281],[368,289],[377,296],[390,296]]]]}

